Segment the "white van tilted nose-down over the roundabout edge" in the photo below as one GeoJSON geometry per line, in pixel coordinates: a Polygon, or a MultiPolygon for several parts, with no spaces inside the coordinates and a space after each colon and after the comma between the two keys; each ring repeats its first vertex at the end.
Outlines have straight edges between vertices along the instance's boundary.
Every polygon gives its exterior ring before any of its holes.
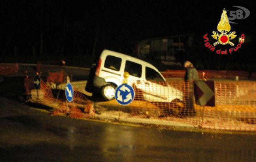
{"type": "MultiPolygon", "coordinates": [[[[98,64],[90,71],[85,90],[95,92],[99,90],[106,100],[115,97],[115,89],[122,84],[124,72],[129,73],[128,81],[142,90],[143,99],[150,102],[172,102],[175,99],[183,100],[183,93],[168,83],[158,69],[143,60],[110,50],[103,50],[98,64]],[[167,93],[166,93],[167,92],[167,93]]],[[[136,94],[135,94],[136,96],[136,94]]]]}

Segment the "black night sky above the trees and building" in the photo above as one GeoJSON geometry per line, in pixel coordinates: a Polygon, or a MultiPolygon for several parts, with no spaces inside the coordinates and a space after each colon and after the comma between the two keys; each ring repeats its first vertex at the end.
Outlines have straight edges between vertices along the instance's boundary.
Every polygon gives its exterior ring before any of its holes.
{"type": "MultiPolygon", "coordinates": [[[[255,36],[256,2],[171,0],[4,0],[0,10],[0,53],[19,55],[40,49],[43,33],[44,52],[58,55],[90,55],[95,37],[96,52],[104,48],[129,51],[132,42],[177,34],[202,36],[217,31],[223,8],[243,6],[250,16],[231,24],[239,36],[255,36]]],[[[202,39],[203,42],[203,39],[202,39]]],[[[254,42],[255,43],[255,42],[254,42]]],[[[249,49],[252,51],[252,49],[249,49]]]]}

